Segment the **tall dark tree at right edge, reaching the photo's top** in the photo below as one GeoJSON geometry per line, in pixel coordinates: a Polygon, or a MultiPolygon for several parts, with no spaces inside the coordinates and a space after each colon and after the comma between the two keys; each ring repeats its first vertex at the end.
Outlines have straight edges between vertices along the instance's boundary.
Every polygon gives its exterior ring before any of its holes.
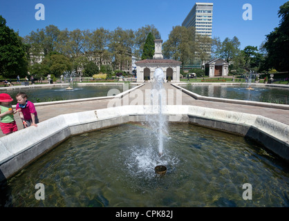
{"type": "Polygon", "coordinates": [[[267,50],[265,68],[276,68],[279,71],[289,70],[289,1],[280,6],[279,27],[266,35],[266,42],[263,45],[267,50]]]}

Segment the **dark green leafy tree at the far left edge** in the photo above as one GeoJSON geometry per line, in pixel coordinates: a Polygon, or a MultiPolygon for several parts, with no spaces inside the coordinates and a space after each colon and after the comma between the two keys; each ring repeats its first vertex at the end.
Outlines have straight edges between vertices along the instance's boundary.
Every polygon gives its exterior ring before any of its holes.
{"type": "Polygon", "coordinates": [[[27,47],[18,33],[6,26],[6,19],[0,15],[0,74],[3,77],[27,75],[27,47]]]}

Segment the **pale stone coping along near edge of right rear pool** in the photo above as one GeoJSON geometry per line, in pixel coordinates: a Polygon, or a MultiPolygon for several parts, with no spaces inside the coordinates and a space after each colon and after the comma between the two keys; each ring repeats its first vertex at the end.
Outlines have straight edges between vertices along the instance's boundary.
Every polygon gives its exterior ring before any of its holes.
{"type": "Polygon", "coordinates": [[[289,110],[288,104],[272,104],[272,103],[265,103],[265,102],[244,101],[241,99],[206,97],[206,96],[201,96],[196,93],[193,93],[192,91],[182,88],[176,84],[171,84],[171,85],[174,86],[175,88],[182,90],[183,93],[186,93],[187,95],[191,97],[194,97],[194,99],[200,99],[200,100],[209,101],[209,102],[224,102],[224,103],[230,103],[230,104],[243,104],[243,105],[250,105],[250,106],[261,106],[265,108],[277,108],[277,109],[289,110]]]}

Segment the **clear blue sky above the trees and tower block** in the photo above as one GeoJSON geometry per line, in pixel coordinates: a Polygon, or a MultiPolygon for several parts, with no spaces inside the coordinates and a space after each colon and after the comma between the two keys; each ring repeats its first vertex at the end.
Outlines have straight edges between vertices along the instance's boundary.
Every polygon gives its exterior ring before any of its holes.
{"type": "Polygon", "coordinates": [[[286,0],[0,0],[0,15],[7,25],[19,32],[21,37],[37,28],[53,24],[59,30],[95,30],[106,28],[114,30],[138,30],[153,24],[166,41],[173,26],[180,26],[196,2],[214,3],[213,37],[236,36],[245,46],[260,46],[275,27],[279,26],[277,12],[286,0]],[[45,6],[45,20],[37,21],[35,6],[45,6]],[[243,4],[252,5],[252,20],[243,20],[243,4]]]}

